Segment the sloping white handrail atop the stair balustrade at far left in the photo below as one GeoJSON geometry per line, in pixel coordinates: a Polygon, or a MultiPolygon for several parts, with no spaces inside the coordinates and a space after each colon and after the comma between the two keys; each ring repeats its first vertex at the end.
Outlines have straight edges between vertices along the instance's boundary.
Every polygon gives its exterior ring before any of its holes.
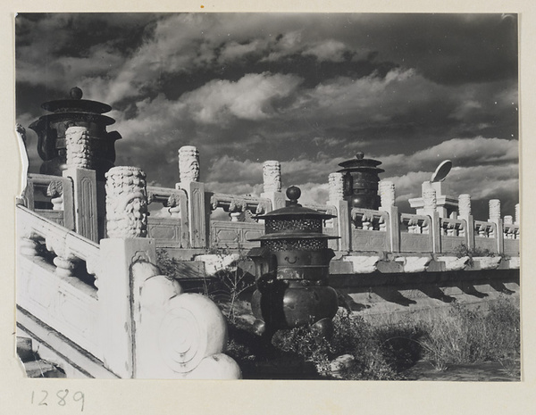
{"type": "Polygon", "coordinates": [[[99,246],[67,228],[40,217],[23,206],[17,206],[21,224],[19,237],[44,239],[46,248],[66,261],[86,261],[89,274],[97,274],[99,246]]]}

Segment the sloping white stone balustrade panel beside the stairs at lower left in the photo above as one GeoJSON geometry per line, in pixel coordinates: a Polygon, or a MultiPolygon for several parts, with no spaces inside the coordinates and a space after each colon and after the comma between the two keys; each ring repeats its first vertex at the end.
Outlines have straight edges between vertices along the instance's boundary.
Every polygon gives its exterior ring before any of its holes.
{"type": "Polygon", "coordinates": [[[98,245],[22,206],[17,207],[17,225],[18,306],[100,358],[96,340],[98,293],[70,273],[73,263],[85,261],[88,272],[97,274],[98,245]],[[29,252],[29,241],[55,253],[54,263],[39,250],[29,252]]]}

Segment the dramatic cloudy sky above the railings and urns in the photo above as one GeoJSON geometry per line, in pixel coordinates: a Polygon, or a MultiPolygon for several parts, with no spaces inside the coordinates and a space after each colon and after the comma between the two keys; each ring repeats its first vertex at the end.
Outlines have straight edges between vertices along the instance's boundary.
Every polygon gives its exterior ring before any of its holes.
{"type": "Polygon", "coordinates": [[[208,190],[259,194],[262,163],[324,203],[328,175],[356,152],[381,160],[408,210],[450,159],[452,194],[518,202],[517,17],[501,14],[87,14],[16,18],[17,122],[30,170],[40,104],[113,107],[116,165],[178,181],[197,145],[208,190]]]}

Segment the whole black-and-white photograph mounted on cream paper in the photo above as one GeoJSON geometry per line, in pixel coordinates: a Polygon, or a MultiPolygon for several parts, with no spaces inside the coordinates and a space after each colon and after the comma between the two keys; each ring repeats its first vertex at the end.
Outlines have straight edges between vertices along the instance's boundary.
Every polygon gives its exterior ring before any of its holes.
{"type": "Polygon", "coordinates": [[[522,381],[519,20],[19,12],[23,376],[522,381]]]}

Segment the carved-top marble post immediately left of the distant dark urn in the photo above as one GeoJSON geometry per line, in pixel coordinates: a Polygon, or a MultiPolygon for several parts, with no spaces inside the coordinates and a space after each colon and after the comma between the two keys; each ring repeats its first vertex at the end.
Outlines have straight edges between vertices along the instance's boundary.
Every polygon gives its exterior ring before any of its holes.
{"type": "Polygon", "coordinates": [[[348,201],[344,200],[344,177],[342,173],[331,173],[328,177],[329,200],[328,203],[337,210],[337,231],[339,239],[330,241],[331,249],[338,251],[350,251],[352,240],[352,222],[348,201]]]}

